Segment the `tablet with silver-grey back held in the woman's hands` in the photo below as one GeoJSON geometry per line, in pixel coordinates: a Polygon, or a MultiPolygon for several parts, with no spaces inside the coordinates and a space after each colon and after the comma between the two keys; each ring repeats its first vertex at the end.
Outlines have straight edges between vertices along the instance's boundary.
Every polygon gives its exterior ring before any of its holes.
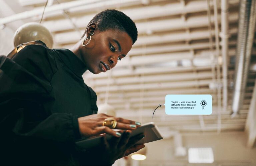
{"type": "MultiPolygon", "coordinates": [[[[141,127],[132,130],[132,133],[130,134],[129,137],[133,137],[141,133],[144,133],[145,137],[139,140],[136,143],[136,145],[163,139],[163,136],[160,134],[160,131],[154,122],[143,124],[141,127]]],[[[92,148],[101,144],[101,137],[103,136],[95,136],[84,140],[80,140],[76,142],[76,145],[78,145],[81,148],[92,148]]],[[[112,135],[106,134],[107,140],[110,140],[112,137],[112,135]]]]}

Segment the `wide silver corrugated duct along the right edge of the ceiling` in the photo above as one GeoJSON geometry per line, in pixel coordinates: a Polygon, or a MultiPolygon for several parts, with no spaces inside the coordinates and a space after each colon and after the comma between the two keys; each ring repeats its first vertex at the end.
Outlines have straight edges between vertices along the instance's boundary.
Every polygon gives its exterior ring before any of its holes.
{"type": "Polygon", "coordinates": [[[256,19],[256,0],[240,0],[235,82],[233,91],[232,114],[238,114],[243,104],[248,78],[256,19]]]}

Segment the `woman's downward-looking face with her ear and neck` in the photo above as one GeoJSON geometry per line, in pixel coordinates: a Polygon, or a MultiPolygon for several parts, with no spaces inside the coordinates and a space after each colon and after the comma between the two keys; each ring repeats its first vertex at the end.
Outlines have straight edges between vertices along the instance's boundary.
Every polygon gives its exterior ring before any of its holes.
{"type": "MultiPolygon", "coordinates": [[[[112,29],[99,31],[96,28],[93,33],[90,35],[91,42],[85,47],[81,44],[79,48],[82,61],[93,74],[114,68],[117,62],[124,58],[132,48],[132,39],[126,32],[112,29]]],[[[89,39],[84,44],[88,41],[89,39]]]]}

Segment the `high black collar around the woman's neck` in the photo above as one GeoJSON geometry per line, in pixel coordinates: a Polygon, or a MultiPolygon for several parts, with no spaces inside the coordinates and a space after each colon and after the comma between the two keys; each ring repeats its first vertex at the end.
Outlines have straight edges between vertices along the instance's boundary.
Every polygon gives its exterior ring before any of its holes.
{"type": "Polygon", "coordinates": [[[81,77],[87,70],[85,64],[69,49],[53,49],[62,54],[58,54],[64,64],[74,72],[78,77],[81,77]]]}

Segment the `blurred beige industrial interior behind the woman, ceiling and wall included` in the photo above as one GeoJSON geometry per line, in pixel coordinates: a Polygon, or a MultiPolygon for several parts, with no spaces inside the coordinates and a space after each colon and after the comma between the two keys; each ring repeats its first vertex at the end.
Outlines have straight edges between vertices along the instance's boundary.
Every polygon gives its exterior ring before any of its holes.
{"type": "Polygon", "coordinates": [[[114,165],[256,165],[255,0],[46,2],[0,0],[1,55],[29,22],[50,31],[53,48],[67,49],[102,10],[120,10],[136,23],[138,40],[126,58],[83,78],[99,112],[153,121],[164,139],[146,144],[144,160],[128,156],[114,165]],[[211,94],[212,114],[166,115],[167,94],[211,94]]]}

